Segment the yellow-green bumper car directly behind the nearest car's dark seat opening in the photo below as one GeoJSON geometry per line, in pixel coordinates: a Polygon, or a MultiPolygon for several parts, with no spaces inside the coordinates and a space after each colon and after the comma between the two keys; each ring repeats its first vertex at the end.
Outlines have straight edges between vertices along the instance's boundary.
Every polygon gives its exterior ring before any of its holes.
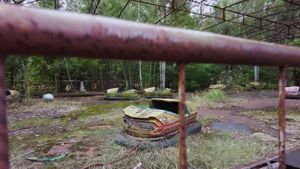
{"type": "Polygon", "coordinates": [[[169,88],[164,88],[156,91],[156,87],[144,89],[144,97],[148,99],[152,98],[173,98],[172,90],[169,88]]]}

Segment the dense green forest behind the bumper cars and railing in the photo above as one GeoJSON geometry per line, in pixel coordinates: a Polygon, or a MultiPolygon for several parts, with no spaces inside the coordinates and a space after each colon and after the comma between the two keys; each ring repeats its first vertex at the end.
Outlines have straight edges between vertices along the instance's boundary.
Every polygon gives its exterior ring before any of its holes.
{"type": "MultiPolygon", "coordinates": [[[[127,0],[42,0],[35,3],[27,4],[24,6],[37,7],[37,8],[49,8],[59,11],[80,12],[91,15],[101,15],[117,18],[124,6],[127,4],[127,0]],[[91,3],[93,5],[91,6],[91,3]],[[55,4],[54,4],[55,3],[55,4]]],[[[152,0],[156,4],[162,4],[165,6],[170,5],[171,1],[167,0],[152,0]]],[[[209,3],[226,7],[230,4],[236,3],[236,0],[226,1],[209,1],[209,3]]],[[[187,3],[186,1],[176,1],[175,6],[179,7],[187,3]]],[[[243,13],[250,13],[261,9],[269,8],[271,5],[281,5],[284,1],[273,0],[260,0],[260,1],[247,1],[230,7],[231,10],[239,11],[243,13]]],[[[193,3],[186,4],[182,9],[202,10],[203,13],[211,14],[215,12],[214,8],[192,8],[193,3]]],[[[265,11],[264,15],[274,13],[276,10],[282,9],[288,10],[291,6],[283,6],[281,8],[274,9],[272,11],[265,11]]],[[[159,24],[164,26],[180,27],[184,29],[192,30],[205,30],[206,32],[213,32],[224,35],[238,35],[248,30],[251,30],[250,26],[236,25],[232,22],[225,22],[208,28],[209,26],[216,24],[217,21],[214,18],[203,17],[199,15],[193,15],[184,13],[182,11],[175,11],[166,18],[171,9],[164,9],[156,6],[149,6],[142,3],[130,2],[122,15],[119,18],[126,20],[133,20],[143,23],[159,24]],[[207,29],[208,28],[208,29],[207,29]]],[[[277,15],[276,19],[280,20],[286,17],[292,17],[290,15],[298,16],[299,10],[295,10],[292,13],[283,13],[277,15]],[[288,15],[288,16],[287,16],[288,15]]],[[[220,13],[216,12],[214,15],[219,16],[220,13]]],[[[255,14],[253,14],[255,16],[255,14]]],[[[258,14],[257,14],[258,15],[258,14]]],[[[261,15],[261,13],[259,13],[261,15]]],[[[230,18],[232,16],[227,15],[230,18]]],[[[275,16],[272,16],[275,17],[275,16]]],[[[274,19],[274,18],[269,19],[274,19]]],[[[297,19],[297,18],[295,18],[297,19]]],[[[245,22],[249,21],[249,24],[257,24],[250,22],[250,18],[245,17],[245,22]],[[248,20],[249,19],[249,20],[248,20]]],[[[263,31],[261,31],[263,32],[263,31]]],[[[272,32],[265,32],[263,34],[248,34],[247,37],[254,40],[262,40],[264,37],[272,35],[272,32]]],[[[218,42],[216,42],[218,43],[218,42]]],[[[281,40],[276,43],[285,45],[299,44],[299,39],[281,40]]],[[[166,63],[166,87],[176,89],[177,87],[177,67],[175,63],[166,63]]],[[[7,87],[14,86],[15,90],[24,92],[24,88],[36,90],[38,86],[44,86],[45,88],[53,87],[54,81],[58,81],[58,92],[64,92],[66,85],[73,81],[74,84],[77,81],[86,80],[86,88],[97,84],[97,90],[104,90],[105,88],[116,87],[116,84],[124,87],[124,89],[131,88],[147,88],[147,87],[160,87],[160,64],[159,62],[141,62],[139,61],[116,61],[106,59],[83,59],[83,58],[46,58],[36,55],[32,56],[15,56],[8,57],[6,62],[6,81],[7,87]],[[142,86],[140,86],[139,68],[141,68],[142,86]],[[24,85],[26,83],[26,85],[24,85]]],[[[277,89],[278,80],[278,68],[276,67],[260,67],[259,81],[266,83],[270,89],[277,89]]],[[[189,64],[186,67],[186,88],[188,91],[203,90],[209,85],[224,83],[228,87],[233,85],[241,85],[247,82],[254,81],[254,66],[245,65],[219,65],[219,64],[189,64]]],[[[288,86],[299,86],[300,82],[300,69],[289,68],[287,72],[288,86]]],[[[74,85],[72,84],[72,85],[74,85]]],[[[117,86],[118,86],[117,85],[117,86]]],[[[77,84],[78,86],[78,84],[77,84]]]]}

